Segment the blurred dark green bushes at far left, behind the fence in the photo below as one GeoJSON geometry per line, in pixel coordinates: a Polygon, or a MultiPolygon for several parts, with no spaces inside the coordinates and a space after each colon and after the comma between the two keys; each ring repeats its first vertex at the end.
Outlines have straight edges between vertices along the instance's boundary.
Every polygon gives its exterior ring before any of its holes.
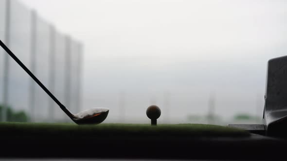
{"type": "MultiPolygon", "coordinates": [[[[0,105],[0,120],[2,119],[3,106],[0,105]]],[[[8,122],[28,122],[29,116],[24,111],[14,111],[11,107],[7,107],[7,121],[8,122]]]]}

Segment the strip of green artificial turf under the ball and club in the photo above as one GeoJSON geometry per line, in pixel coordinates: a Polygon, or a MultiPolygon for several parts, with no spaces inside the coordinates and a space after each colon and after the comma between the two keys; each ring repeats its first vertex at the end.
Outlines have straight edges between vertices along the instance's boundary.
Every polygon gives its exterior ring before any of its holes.
{"type": "Polygon", "coordinates": [[[234,137],[249,135],[249,132],[245,130],[205,124],[162,124],[150,126],[147,124],[0,123],[0,136],[7,137],[234,137]]]}

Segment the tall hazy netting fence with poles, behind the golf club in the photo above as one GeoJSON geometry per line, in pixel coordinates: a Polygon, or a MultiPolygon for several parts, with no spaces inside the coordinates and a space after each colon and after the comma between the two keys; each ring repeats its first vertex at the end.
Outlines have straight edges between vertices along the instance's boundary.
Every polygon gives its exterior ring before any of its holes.
{"type": "MultiPolygon", "coordinates": [[[[80,111],[83,45],[56,30],[18,0],[0,0],[0,40],[72,112],[80,111]]],[[[31,121],[67,121],[54,101],[0,49],[1,121],[7,109],[31,121]]]]}

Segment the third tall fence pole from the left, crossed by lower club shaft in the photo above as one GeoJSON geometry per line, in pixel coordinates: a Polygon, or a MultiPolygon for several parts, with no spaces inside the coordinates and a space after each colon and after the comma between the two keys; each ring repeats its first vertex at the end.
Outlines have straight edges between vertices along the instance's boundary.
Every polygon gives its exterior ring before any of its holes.
{"type": "MultiPolygon", "coordinates": [[[[50,69],[49,69],[49,88],[52,93],[54,93],[55,88],[55,28],[50,26],[50,69]]],[[[49,119],[54,120],[54,101],[51,98],[49,100],[49,119]]]]}

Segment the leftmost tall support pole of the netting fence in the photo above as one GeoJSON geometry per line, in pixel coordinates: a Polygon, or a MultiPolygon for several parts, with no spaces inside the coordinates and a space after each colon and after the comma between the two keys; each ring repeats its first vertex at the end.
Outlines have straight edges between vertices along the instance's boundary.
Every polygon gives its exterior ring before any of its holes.
{"type": "MultiPolygon", "coordinates": [[[[6,20],[5,20],[5,43],[10,47],[10,19],[11,1],[6,0],[6,20]]],[[[7,107],[9,99],[9,55],[4,55],[4,77],[3,77],[3,107],[2,121],[7,121],[7,107]]]]}

